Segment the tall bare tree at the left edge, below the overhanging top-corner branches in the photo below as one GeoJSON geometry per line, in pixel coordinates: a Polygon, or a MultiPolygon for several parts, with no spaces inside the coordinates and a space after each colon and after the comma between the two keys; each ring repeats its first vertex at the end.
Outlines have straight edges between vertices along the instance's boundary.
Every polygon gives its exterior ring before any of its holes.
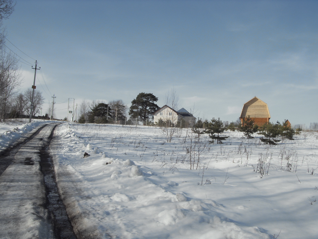
{"type": "Polygon", "coordinates": [[[5,54],[0,55],[0,118],[4,119],[8,106],[11,106],[22,79],[17,59],[5,54]]]}

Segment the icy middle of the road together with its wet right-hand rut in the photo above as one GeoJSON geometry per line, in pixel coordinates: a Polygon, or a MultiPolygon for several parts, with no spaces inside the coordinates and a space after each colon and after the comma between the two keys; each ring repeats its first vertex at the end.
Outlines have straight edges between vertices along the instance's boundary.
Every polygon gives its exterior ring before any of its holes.
{"type": "Polygon", "coordinates": [[[19,147],[13,163],[0,176],[1,238],[76,238],[69,221],[71,232],[66,232],[65,217],[66,221],[68,218],[58,199],[51,159],[46,152],[56,126],[47,125],[33,134],[32,139],[19,147]],[[51,175],[47,170],[51,170],[51,175]]]}

